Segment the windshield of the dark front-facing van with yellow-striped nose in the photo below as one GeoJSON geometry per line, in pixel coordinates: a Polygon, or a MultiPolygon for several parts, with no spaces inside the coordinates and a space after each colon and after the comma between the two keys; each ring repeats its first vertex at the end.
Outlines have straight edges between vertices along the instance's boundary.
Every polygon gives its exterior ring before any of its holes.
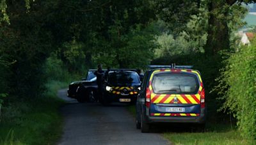
{"type": "Polygon", "coordinates": [[[132,85],[132,83],[140,83],[140,79],[136,72],[111,72],[108,83],[111,85],[132,85]]]}

